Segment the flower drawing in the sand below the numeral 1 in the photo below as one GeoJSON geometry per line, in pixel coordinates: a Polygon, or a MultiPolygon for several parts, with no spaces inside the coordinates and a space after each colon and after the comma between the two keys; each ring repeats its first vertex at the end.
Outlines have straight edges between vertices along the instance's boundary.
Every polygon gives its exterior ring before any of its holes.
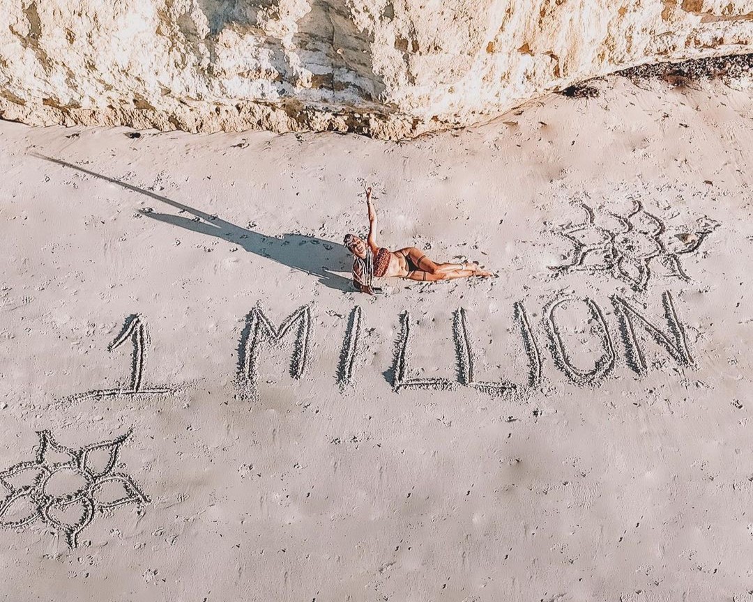
{"type": "Polygon", "coordinates": [[[72,449],[56,442],[50,431],[39,431],[35,460],[0,472],[0,485],[8,491],[0,501],[0,526],[41,522],[75,548],[78,535],[97,512],[148,503],[130,476],[114,472],[120,445],[130,434],[131,430],[111,441],[72,449]]]}

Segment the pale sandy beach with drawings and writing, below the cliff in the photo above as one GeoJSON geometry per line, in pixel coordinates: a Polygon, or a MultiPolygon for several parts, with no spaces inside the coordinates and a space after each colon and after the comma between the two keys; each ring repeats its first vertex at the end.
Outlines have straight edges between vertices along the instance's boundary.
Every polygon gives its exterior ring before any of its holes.
{"type": "Polygon", "coordinates": [[[749,602],[753,100],[599,85],[402,144],[0,123],[0,599],[749,602]],[[350,292],[364,181],[498,278],[350,292]]]}

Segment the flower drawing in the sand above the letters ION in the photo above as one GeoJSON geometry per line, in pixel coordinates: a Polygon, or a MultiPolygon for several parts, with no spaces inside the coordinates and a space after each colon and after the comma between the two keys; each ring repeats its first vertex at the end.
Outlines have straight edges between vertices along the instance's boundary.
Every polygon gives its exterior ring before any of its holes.
{"type": "Polygon", "coordinates": [[[682,256],[697,251],[718,223],[706,219],[694,232],[670,232],[663,220],[648,213],[640,201],[633,200],[633,205],[626,216],[608,213],[605,220],[599,220],[593,208],[581,203],[586,219],[559,229],[573,245],[570,263],[551,269],[605,272],[639,292],[646,290],[655,269],[689,281],[682,256]],[[599,225],[600,221],[611,221],[611,227],[599,225]]]}

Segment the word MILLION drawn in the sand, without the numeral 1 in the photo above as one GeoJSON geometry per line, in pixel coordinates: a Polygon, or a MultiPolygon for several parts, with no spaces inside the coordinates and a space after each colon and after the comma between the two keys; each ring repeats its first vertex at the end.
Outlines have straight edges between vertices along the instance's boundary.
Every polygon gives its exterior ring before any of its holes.
{"type": "MultiPolygon", "coordinates": [[[[639,375],[648,370],[645,346],[653,339],[660,352],[666,354],[678,366],[693,366],[694,361],[687,345],[684,326],[678,318],[675,302],[669,291],[663,293],[662,308],[639,308],[621,296],[609,299],[617,321],[617,340],[626,364],[639,375]],[[657,314],[663,314],[660,318],[657,314]]],[[[490,395],[522,396],[532,393],[541,385],[544,354],[548,351],[553,365],[569,380],[579,386],[597,385],[614,371],[617,363],[618,345],[615,344],[613,327],[605,319],[605,312],[595,300],[574,296],[560,296],[548,303],[542,312],[538,328],[532,326],[529,312],[523,302],[514,303],[514,331],[519,333],[520,348],[526,357],[527,369],[518,382],[507,380],[484,380],[477,374],[475,343],[468,324],[465,309],[453,315],[453,339],[456,348],[456,373],[454,380],[446,378],[421,378],[416,366],[410,362],[413,321],[408,312],[400,316],[400,331],[395,345],[395,357],[389,371],[392,389],[395,392],[410,389],[444,390],[456,386],[474,388],[490,395]],[[568,344],[564,336],[562,313],[568,306],[581,304],[588,315],[587,330],[593,341],[590,346],[600,348],[600,356],[591,366],[577,365],[578,349],[568,344]]],[[[346,327],[340,361],[337,366],[337,382],[346,388],[355,380],[358,368],[358,350],[363,338],[364,317],[360,307],[355,307],[346,327]]],[[[302,379],[312,362],[310,347],[312,339],[312,307],[300,307],[277,326],[261,309],[253,309],[246,318],[239,345],[238,380],[245,397],[258,395],[260,360],[272,346],[292,342],[290,373],[294,379],[302,379]]],[[[582,360],[581,360],[582,361],[582,360]]]]}

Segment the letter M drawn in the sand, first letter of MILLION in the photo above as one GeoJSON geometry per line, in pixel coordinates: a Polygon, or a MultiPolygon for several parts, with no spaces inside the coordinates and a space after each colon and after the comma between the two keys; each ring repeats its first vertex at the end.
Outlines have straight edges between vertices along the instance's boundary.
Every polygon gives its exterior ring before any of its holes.
{"type": "Polygon", "coordinates": [[[279,327],[264,315],[261,308],[255,307],[248,312],[238,347],[238,377],[242,393],[246,397],[255,399],[258,396],[258,361],[262,355],[262,343],[279,344],[294,324],[298,325],[298,330],[293,345],[290,374],[294,379],[300,379],[306,371],[309,358],[311,306],[300,307],[288,315],[279,327]]]}

